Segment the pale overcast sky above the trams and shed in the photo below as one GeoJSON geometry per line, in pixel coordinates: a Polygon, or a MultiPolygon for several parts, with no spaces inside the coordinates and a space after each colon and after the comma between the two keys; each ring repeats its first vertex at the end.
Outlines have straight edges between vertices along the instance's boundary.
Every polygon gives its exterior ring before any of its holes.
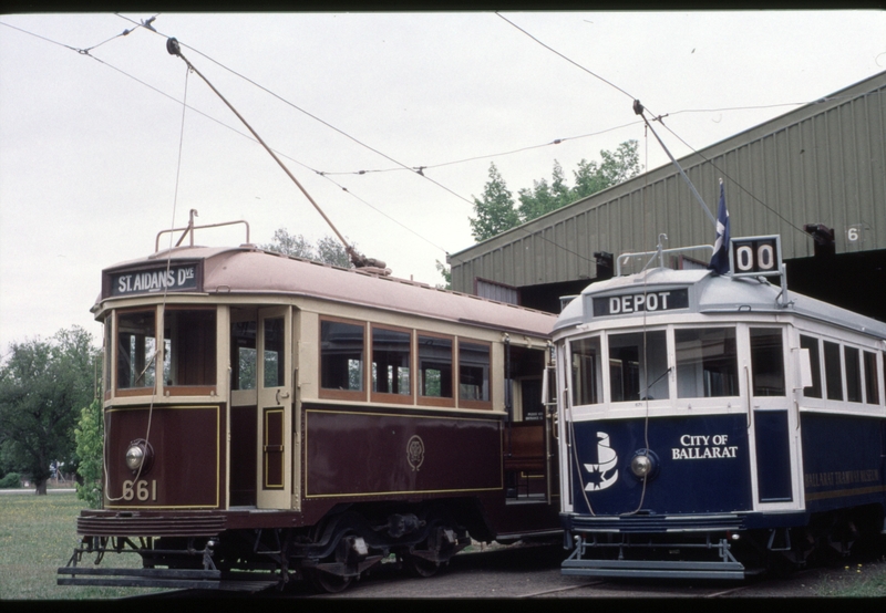
{"type": "Polygon", "coordinates": [[[515,198],[555,159],[571,179],[631,138],[651,169],[667,158],[635,97],[701,148],[886,70],[879,11],[163,13],[134,29],[151,17],[0,15],[0,355],[71,325],[97,342],[102,269],[152,253],[192,208],[246,219],[259,245],[332,233],[166,37],[359,250],[431,284],[473,243],[493,162],[515,198]]]}

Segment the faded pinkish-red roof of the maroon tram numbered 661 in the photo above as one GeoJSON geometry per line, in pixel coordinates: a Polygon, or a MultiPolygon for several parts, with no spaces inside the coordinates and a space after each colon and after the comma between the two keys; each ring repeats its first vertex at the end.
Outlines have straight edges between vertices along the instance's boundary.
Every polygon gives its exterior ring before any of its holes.
{"type": "MultiPolygon", "coordinates": [[[[549,337],[556,315],[404,279],[344,269],[302,258],[240,247],[182,247],[104,269],[119,273],[158,262],[200,261],[205,294],[285,294],[310,297],[549,337]]],[[[143,294],[144,295],[144,294],[143,294]]],[[[106,308],[100,294],[93,311],[106,308]]]]}

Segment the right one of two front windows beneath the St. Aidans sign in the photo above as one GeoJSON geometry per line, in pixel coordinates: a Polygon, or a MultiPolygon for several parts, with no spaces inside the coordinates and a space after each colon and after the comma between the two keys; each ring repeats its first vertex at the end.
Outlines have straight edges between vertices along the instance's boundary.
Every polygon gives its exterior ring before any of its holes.
{"type": "Polygon", "coordinates": [[[167,309],[163,318],[166,385],[215,385],[215,310],[167,309]]]}

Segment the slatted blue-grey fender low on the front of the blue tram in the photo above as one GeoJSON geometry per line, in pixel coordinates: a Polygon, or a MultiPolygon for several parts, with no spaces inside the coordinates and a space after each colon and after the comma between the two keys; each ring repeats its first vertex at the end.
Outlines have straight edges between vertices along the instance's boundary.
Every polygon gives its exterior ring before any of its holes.
{"type": "Polygon", "coordinates": [[[709,555],[667,560],[657,559],[661,543],[637,543],[622,541],[601,543],[595,538],[576,537],[576,548],[562,565],[563,574],[579,576],[632,576],[646,579],[735,579],[745,578],[745,568],[729,550],[725,539],[718,542],[668,543],[669,551],[693,551],[709,555]],[[626,555],[626,552],[630,552],[626,555]],[[615,555],[612,555],[615,554],[615,555]],[[702,558],[702,559],[698,559],[702,558]],[[703,559],[709,558],[709,559],[703,559]]]}

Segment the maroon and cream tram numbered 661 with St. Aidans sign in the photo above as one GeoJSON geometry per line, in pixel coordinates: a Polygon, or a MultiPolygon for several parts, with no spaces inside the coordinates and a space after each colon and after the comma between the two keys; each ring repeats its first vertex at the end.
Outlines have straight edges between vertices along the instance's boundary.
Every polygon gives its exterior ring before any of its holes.
{"type": "Polygon", "coordinates": [[[387,557],[429,575],[471,538],[559,533],[554,315],[284,257],[246,228],[210,248],[189,226],[192,246],[103,271],[104,503],[59,583],[261,570],[337,591],[387,557]],[[107,552],[143,568],[86,563],[107,552]]]}

